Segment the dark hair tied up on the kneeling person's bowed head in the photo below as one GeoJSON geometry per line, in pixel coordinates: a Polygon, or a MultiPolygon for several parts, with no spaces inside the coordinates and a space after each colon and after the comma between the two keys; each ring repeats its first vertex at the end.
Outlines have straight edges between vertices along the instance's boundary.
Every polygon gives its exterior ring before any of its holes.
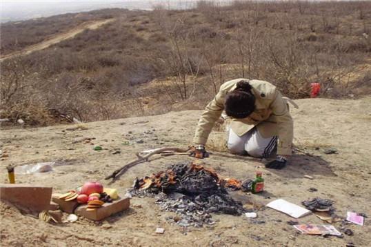
{"type": "Polygon", "coordinates": [[[248,81],[237,82],[236,89],[225,97],[224,109],[229,117],[243,119],[255,110],[255,96],[248,81]]]}

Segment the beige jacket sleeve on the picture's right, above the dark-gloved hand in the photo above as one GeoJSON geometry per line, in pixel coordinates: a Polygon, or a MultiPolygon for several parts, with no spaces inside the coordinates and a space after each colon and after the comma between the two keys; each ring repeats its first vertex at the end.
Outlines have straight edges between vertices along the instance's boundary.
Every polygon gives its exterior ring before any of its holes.
{"type": "Polygon", "coordinates": [[[274,100],[271,104],[272,115],[276,118],[278,127],[277,155],[291,155],[292,139],[294,137],[294,123],[285,99],[281,92],[275,90],[274,100]]]}

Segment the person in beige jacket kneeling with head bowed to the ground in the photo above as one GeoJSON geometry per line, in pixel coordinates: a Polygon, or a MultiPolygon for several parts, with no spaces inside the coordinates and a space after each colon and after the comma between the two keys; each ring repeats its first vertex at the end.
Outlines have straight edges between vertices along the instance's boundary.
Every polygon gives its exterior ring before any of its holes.
{"type": "Polygon", "coordinates": [[[230,152],[265,158],[277,148],[277,158],[265,167],[282,169],[291,155],[293,138],[293,122],[286,99],[267,81],[227,81],[201,115],[194,145],[204,149],[212,127],[224,110],[231,119],[230,152]]]}

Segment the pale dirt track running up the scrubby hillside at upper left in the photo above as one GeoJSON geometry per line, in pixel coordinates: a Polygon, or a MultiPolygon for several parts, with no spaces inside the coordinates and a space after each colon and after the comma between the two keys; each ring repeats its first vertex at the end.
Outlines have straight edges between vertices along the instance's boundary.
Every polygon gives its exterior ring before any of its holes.
{"type": "Polygon", "coordinates": [[[12,58],[12,57],[16,57],[16,56],[28,55],[31,52],[34,52],[34,51],[37,51],[37,50],[43,50],[45,48],[48,48],[49,46],[54,45],[54,43],[59,43],[59,42],[65,40],[65,39],[70,39],[70,38],[74,37],[75,35],[79,34],[80,32],[83,32],[86,29],[94,30],[94,29],[100,28],[101,26],[103,26],[107,23],[110,23],[113,20],[114,19],[106,19],[106,20],[103,20],[103,21],[102,20],[101,21],[93,21],[93,22],[89,21],[87,23],[83,23],[80,26],[78,26],[77,28],[73,28],[72,30],[70,30],[68,32],[64,32],[62,34],[57,34],[54,37],[51,37],[50,39],[46,39],[46,40],[42,41],[41,43],[37,43],[33,46],[28,46],[27,48],[25,48],[23,50],[20,50],[20,51],[17,51],[17,52],[12,52],[8,55],[4,55],[4,56],[0,57],[0,61],[3,61],[5,59],[9,59],[9,58],[12,58]]]}

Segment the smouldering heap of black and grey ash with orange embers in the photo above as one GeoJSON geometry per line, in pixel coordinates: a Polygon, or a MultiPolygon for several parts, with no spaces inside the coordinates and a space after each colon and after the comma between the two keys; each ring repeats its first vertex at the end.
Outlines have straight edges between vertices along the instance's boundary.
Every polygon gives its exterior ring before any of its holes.
{"type": "Polygon", "coordinates": [[[162,210],[172,211],[179,226],[212,225],[210,213],[241,215],[246,210],[228,195],[228,180],[220,179],[212,168],[200,164],[174,164],[151,177],[135,179],[130,193],[154,197],[162,210]]]}

